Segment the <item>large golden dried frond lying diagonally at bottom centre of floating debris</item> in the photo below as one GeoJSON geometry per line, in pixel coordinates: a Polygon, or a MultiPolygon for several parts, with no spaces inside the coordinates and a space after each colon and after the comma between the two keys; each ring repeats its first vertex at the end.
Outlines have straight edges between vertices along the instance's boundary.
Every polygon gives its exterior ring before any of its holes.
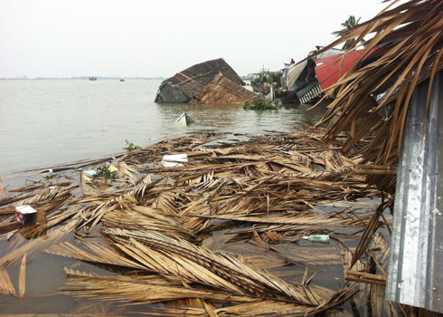
{"type": "Polygon", "coordinates": [[[118,247],[145,264],[149,270],[185,276],[191,281],[234,293],[279,295],[297,303],[312,304],[297,288],[265,271],[253,270],[231,255],[216,253],[158,233],[134,235],[134,232],[118,229],[105,229],[104,233],[116,242],[130,243],[118,247]],[[127,241],[128,238],[130,241],[127,241]]]}

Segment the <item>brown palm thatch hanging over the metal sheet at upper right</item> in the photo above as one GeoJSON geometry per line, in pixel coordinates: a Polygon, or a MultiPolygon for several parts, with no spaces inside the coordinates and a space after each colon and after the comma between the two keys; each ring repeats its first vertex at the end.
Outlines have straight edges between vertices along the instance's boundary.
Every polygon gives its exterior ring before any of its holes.
{"type": "MultiPolygon", "coordinates": [[[[351,39],[355,41],[350,50],[364,45],[360,60],[326,94],[325,98],[335,100],[318,124],[328,123],[329,140],[345,129],[351,130],[344,153],[367,133],[376,131],[376,138],[362,154],[365,161],[384,169],[397,165],[412,91],[419,82],[429,80],[429,102],[434,75],[443,69],[443,1],[414,0],[395,6],[397,3],[392,1],[380,14],[318,52],[351,39]],[[370,34],[372,39],[362,44],[370,34]]],[[[394,174],[370,174],[372,184],[391,193],[395,190],[394,174]]]]}

